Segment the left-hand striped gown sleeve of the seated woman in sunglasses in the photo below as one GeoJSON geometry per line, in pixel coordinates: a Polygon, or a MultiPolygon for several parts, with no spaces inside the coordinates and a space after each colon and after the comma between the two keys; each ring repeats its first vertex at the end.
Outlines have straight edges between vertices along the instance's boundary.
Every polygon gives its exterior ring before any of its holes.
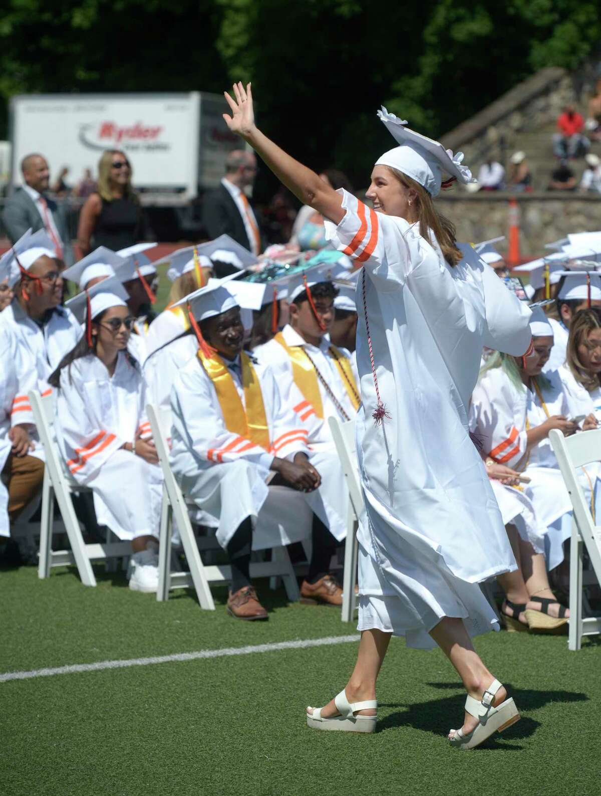
{"type": "Polygon", "coordinates": [[[57,391],[56,420],[71,474],[79,482],[91,478],[103,463],[130,439],[121,439],[113,431],[99,427],[88,411],[87,400],[76,365],[60,373],[57,391]]]}

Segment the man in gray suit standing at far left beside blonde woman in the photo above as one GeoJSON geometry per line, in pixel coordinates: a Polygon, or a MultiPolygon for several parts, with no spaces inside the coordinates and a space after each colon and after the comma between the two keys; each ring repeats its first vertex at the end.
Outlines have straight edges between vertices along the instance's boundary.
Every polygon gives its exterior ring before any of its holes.
{"type": "Polygon", "coordinates": [[[46,196],[50,170],[41,154],[28,154],[21,161],[25,185],[17,188],[6,200],[2,221],[10,240],[15,243],[31,227],[33,232],[45,229],[59,259],[72,263],[71,241],[64,207],[46,196]]]}

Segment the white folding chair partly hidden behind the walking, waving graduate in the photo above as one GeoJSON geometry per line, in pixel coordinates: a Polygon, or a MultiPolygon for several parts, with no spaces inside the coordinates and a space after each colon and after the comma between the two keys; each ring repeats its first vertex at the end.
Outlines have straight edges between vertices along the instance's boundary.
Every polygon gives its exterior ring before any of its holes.
{"type": "Polygon", "coordinates": [[[355,446],[355,419],[340,423],[337,417],[329,419],[330,431],[336,446],[336,451],[343,467],[344,477],[347,481],[348,501],[347,509],[347,540],[344,544],[344,573],[343,573],[343,607],[342,621],[352,622],[355,616],[355,584],[357,583],[357,562],[359,559],[359,543],[357,541],[357,525],[359,514],[363,511],[363,492],[357,465],[357,449],[355,446]]]}

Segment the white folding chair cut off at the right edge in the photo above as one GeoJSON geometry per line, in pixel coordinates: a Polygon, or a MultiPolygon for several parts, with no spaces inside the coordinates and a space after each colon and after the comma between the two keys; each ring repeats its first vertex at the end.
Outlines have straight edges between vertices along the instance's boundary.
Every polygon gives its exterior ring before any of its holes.
{"type": "Polygon", "coordinates": [[[595,525],[584,497],[576,469],[601,458],[601,429],[582,431],[570,437],[558,429],[549,431],[565,486],[572,499],[572,539],[570,541],[570,619],[568,648],[580,650],[582,637],[601,633],[601,616],[583,617],[582,556],[586,548],[591,567],[601,584],[601,525],[595,525]]]}

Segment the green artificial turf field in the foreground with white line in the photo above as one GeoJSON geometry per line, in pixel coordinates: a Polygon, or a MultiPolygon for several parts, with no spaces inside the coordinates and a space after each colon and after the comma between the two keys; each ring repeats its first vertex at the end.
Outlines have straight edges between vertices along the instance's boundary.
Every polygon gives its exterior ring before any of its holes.
{"type": "MultiPolygon", "coordinates": [[[[39,581],[0,572],[0,673],[346,635],[327,607],[259,594],[269,622],[132,593],[122,574],[73,570],[39,581]]],[[[489,633],[476,646],[522,721],[471,752],[444,736],[464,694],[438,651],[393,639],[378,687],[378,731],[316,732],[306,704],[342,688],[355,644],[0,683],[0,793],[17,794],[598,794],[601,639],[489,633]]]]}

